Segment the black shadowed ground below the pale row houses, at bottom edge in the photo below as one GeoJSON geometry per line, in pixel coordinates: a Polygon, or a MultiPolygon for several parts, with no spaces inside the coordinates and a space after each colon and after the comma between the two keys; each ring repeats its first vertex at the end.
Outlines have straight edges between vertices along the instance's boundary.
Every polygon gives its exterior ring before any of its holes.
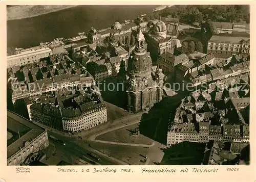
{"type": "Polygon", "coordinates": [[[163,149],[161,165],[201,165],[205,143],[183,142],[163,149]]]}

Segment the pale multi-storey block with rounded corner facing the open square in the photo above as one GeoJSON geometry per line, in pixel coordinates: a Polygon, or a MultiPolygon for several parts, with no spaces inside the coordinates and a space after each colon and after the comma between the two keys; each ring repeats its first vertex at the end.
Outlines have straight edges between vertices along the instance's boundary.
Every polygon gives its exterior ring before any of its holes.
{"type": "Polygon", "coordinates": [[[30,106],[31,120],[59,131],[72,133],[90,129],[107,121],[104,101],[96,91],[72,98],[57,96],[56,102],[34,103],[30,106]]]}

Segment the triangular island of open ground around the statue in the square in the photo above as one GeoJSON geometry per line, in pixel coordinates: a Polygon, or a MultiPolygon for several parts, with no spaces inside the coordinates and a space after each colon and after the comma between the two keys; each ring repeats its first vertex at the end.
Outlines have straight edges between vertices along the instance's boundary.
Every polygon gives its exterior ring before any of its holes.
{"type": "Polygon", "coordinates": [[[132,135],[132,132],[135,130],[135,128],[138,127],[139,123],[123,127],[115,131],[100,135],[96,137],[96,140],[151,145],[153,143],[153,140],[151,140],[150,138],[147,138],[140,134],[138,136],[132,135]]]}

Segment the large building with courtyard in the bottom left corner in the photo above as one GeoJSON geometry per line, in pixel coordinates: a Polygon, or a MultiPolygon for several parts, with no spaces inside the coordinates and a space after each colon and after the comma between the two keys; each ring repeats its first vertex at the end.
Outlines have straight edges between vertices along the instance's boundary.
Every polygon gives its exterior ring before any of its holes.
{"type": "Polygon", "coordinates": [[[7,165],[28,165],[49,146],[47,130],[7,111],[7,165]],[[14,140],[16,138],[16,140],[14,140]]]}

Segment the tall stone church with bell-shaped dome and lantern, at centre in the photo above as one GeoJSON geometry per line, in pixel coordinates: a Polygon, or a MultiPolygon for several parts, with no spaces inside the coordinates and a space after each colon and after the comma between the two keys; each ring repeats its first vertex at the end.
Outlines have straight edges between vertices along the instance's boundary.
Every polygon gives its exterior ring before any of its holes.
{"type": "Polygon", "coordinates": [[[150,53],[141,30],[136,37],[136,47],[131,54],[125,77],[127,110],[137,113],[150,108],[160,101],[163,95],[164,74],[157,68],[153,71],[150,53]]]}

